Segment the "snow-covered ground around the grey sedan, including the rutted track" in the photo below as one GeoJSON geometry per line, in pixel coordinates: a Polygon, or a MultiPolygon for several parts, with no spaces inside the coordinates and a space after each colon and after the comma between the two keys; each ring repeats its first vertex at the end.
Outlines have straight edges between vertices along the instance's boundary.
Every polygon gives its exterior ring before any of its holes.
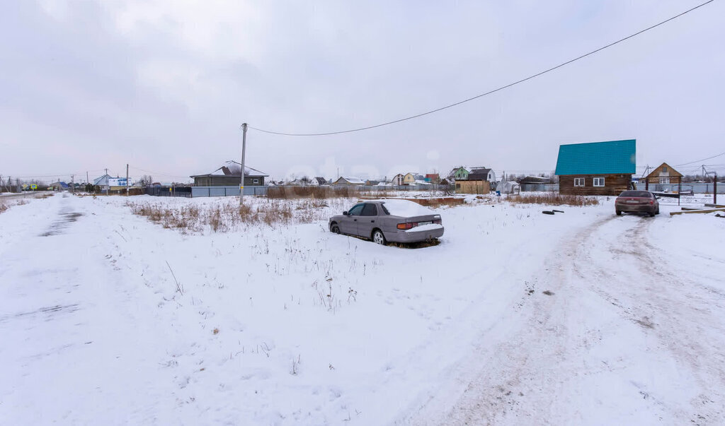
{"type": "Polygon", "coordinates": [[[328,232],[354,200],[223,231],[128,203],[231,198],[27,201],[0,213],[1,424],[725,423],[712,214],[480,200],[410,249],[328,232]]]}

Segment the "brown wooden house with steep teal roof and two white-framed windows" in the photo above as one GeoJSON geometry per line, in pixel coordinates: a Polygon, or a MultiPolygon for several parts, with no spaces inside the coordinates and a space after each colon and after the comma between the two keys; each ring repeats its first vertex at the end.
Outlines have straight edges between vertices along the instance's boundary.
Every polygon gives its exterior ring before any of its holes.
{"type": "Polygon", "coordinates": [[[556,161],[559,193],[619,195],[631,189],[636,153],[634,139],[560,145],[556,161]]]}

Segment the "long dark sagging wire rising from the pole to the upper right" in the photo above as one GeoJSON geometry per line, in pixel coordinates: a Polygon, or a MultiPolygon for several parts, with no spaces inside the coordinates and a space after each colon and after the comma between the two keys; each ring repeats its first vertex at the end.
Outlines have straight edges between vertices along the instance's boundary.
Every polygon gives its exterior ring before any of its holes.
{"type": "Polygon", "coordinates": [[[680,14],[676,14],[674,17],[671,17],[671,18],[669,18],[667,20],[663,20],[662,22],[659,22],[658,24],[652,25],[651,27],[647,27],[644,30],[637,31],[637,33],[634,33],[632,35],[628,35],[625,38],[619,39],[618,41],[615,41],[613,43],[609,43],[608,45],[602,46],[600,48],[597,48],[594,51],[590,51],[587,54],[583,54],[581,56],[577,56],[576,58],[570,59],[570,60],[568,60],[566,62],[563,62],[561,64],[558,64],[555,67],[551,67],[549,69],[545,69],[542,72],[538,72],[537,74],[533,74],[533,75],[531,75],[529,77],[526,77],[526,78],[523,78],[521,80],[518,80],[518,81],[515,81],[515,82],[512,82],[512,83],[509,83],[508,85],[501,86],[500,88],[497,88],[497,89],[494,89],[494,90],[489,90],[486,93],[481,93],[480,95],[473,96],[472,98],[464,99],[463,101],[458,101],[456,103],[451,103],[450,105],[442,106],[440,108],[436,108],[436,109],[433,109],[431,111],[426,111],[426,112],[423,112],[421,114],[415,114],[413,116],[407,116],[407,117],[402,118],[402,119],[393,120],[392,122],[384,122],[384,123],[381,123],[381,124],[374,124],[373,126],[367,126],[367,127],[358,127],[357,129],[340,130],[338,132],[321,132],[321,133],[286,133],[286,132],[273,132],[272,130],[259,129],[257,127],[252,127],[252,126],[248,126],[248,127],[250,129],[257,130],[257,132],[270,133],[272,135],[283,135],[283,136],[327,136],[327,135],[340,135],[342,133],[360,132],[360,131],[363,131],[363,130],[375,129],[376,127],[387,126],[389,124],[395,124],[395,123],[399,123],[399,122],[405,122],[406,120],[417,119],[418,117],[421,117],[421,116],[426,116],[428,114],[434,114],[434,113],[436,113],[438,111],[443,111],[444,109],[452,108],[452,107],[458,106],[458,105],[460,105],[462,103],[470,102],[470,101],[476,100],[478,98],[483,98],[486,95],[491,95],[492,93],[496,93],[496,92],[498,92],[500,90],[504,90],[504,89],[510,88],[512,86],[518,85],[518,84],[520,84],[522,82],[526,82],[528,80],[534,79],[536,77],[539,77],[540,75],[546,74],[547,72],[552,72],[555,69],[559,69],[559,68],[564,67],[564,66],[566,66],[568,64],[571,64],[572,62],[579,61],[579,59],[584,59],[587,56],[590,56],[590,55],[596,54],[597,52],[603,51],[605,48],[610,48],[610,47],[612,47],[612,46],[614,46],[614,45],[616,45],[618,43],[621,43],[623,41],[629,40],[630,38],[636,37],[637,35],[640,35],[642,33],[645,33],[647,31],[649,31],[649,30],[652,30],[653,28],[659,27],[660,25],[666,24],[667,22],[670,22],[671,20],[676,20],[677,18],[681,17],[682,15],[687,14],[689,12],[692,12],[695,9],[699,9],[700,7],[703,7],[706,4],[710,4],[713,1],[715,1],[715,0],[705,1],[705,3],[703,3],[703,4],[699,4],[699,5],[695,6],[695,7],[693,7],[692,9],[687,9],[686,11],[684,11],[684,12],[682,12],[680,14]]]}

